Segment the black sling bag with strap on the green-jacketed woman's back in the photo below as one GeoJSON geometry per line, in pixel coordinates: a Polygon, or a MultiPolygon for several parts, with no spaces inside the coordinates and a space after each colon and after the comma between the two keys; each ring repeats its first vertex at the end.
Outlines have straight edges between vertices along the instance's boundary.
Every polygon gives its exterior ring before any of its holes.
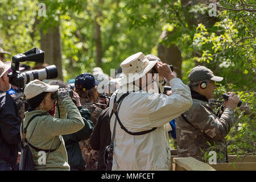
{"type": "MultiPolygon", "coordinates": [[[[46,113],[43,113],[43,114],[46,114],[46,113]]],[[[22,152],[20,155],[19,171],[35,171],[35,163],[34,163],[34,159],[33,159],[30,147],[33,148],[37,152],[44,151],[44,152],[49,153],[49,152],[53,152],[53,151],[57,150],[61,145],[61,142],[60,142],[60,145],[56,149],[53,149],[53,150],[52,149],[44,150],[44,149],[32,146],[32,144],[29,143],[29,140],[31,139],[32,134],[34,133],[34,130],[32,131],[30,139],[28,139],[28,140],[26,139],[27,127],[30,124],[30,122],[32,121],[32,119],[34,119],[35,117],[38,117],[40,115],[43,115],[43,114],[36,114],[33,117],[31,117],[27,123],[27,126],[24,127],[24,129],[23,129],[23,121],[22,121],[22,152]]]]}

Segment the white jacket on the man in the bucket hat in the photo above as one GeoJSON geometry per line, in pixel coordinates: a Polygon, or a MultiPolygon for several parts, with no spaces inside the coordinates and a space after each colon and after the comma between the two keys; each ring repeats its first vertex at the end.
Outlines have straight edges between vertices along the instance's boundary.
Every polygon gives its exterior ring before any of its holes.
{"type": "MultiPolygon", "coordinates": [[[[114,139],[112,170],[169,170],[170,144],[166,123],[177,118],[192,105],[191,92],[179,78],[170,81],[171,96],[166,94],[130,93],[123,99],[118,117],[131,132],[158,129],[144,135],[133,136],[121,129],[117,122],[114,139]]],[[[138,90],[135,89],[135,90],[138,90]]],[[[115,92],[109,105],[113,109],[115,92]]],[[[123,93],[117,95],[117,100],[123,93]]],[[[113,133],[115,115],[110,121],[113,133]]]]}

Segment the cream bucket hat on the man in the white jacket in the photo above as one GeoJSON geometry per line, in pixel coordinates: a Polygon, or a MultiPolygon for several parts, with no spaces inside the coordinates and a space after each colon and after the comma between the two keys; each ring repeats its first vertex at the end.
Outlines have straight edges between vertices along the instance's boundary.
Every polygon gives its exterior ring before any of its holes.
{"type": "Polygon", "coordinates": [[[127,57],[121,64],[123,77],[121,84],[129,84],[146,75],[158,61],[149,61],[142,52],[127,57]]]}

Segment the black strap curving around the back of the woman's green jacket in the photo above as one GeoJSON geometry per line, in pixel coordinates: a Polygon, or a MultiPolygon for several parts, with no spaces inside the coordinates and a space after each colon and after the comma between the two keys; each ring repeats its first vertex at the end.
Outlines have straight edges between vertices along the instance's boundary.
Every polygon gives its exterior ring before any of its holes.
{"type": "MultiPolygon", "coordinates": [[[[45,113],[43,113],[43,114],[45,114],[45,113]]],[[[28,144],[28,146],[30,146],[31,148],[33,148],[36,152],[39,152],[39,151],[53,152],[53,151],[56,151],[56,150],[60,147],[61,142],[60,142],[60,144],[59,144],[59,146],[58,146],[57,148],[46,150],[46,149],[41,149],[41,148],[37,148],[37,147],[33,146],[33,145],[32,145],[31,143],[29,143],[28,140],[26,139],[27,127],[28,127],[28,125],[30,125],[30,122],[31,122],[35,117],[38,117],[38,116],[43,115],[43,114],[35,114],[35,115],[33,115],[33,116],[30,118],[30,120],[28,120],[27,126],[24,127],[24,129],[23,129],[23,121],[22,121],[22,136],[23,136],[23,137],[22,137],[22,147],[23,147],[23,143],[25,142],[25,143],[28,144]]]]}

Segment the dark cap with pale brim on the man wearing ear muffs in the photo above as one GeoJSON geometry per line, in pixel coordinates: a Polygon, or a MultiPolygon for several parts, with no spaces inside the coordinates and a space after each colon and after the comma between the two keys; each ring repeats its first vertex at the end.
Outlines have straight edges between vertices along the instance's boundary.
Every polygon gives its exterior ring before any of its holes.
{"type": "Polygon", "coordinates": [[[188,74],[188,79],[190,82],[198,82],[203,80],[222,81],[223,77],[214,76],[210,69],[199,65],[191,70],[191,72],[188,74]]]}

